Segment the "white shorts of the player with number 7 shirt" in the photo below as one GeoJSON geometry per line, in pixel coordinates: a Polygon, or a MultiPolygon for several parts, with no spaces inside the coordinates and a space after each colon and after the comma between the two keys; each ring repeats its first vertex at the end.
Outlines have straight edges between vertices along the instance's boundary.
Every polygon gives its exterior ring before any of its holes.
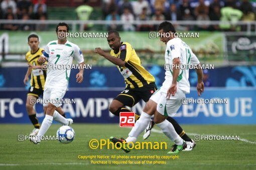
{"type": "Polygon", "coordinates": [[[47,106],[48,103],[52,103],[56,107],[62,105],[61,100],[64,97],[66,90],[59,88],[45,88],[43,95],[43,105],[47,106]]]}

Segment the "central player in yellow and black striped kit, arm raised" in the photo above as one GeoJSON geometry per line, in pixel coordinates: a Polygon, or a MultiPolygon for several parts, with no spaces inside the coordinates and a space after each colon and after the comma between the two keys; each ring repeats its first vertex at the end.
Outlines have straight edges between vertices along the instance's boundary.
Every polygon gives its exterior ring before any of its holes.
{"type": "MultiPolygon", "coordinates": [[[[142,66],[141,59],[136,54],[135,49],[130,43],[121,42],[119,33],[116,30],[108,31],[107,41],[112,49],[110,55],[101,48],[95,48],[95,52],[114,63],[124,78],[125,89],[109,105],[109,111],[119,116],[119,113],[123,111],[132,112],[130,109],[125,108],[125,106],[133,107],[141,99],[147,102],[157,90],[157,86],[154,76],[142,66]]],[[[138,120],[139,117],[140,115],[135,114],[135,120],[138,120]]],[[[181,138],[192,142],[191,138],[184,132],[176,120],[172,117],[168,117],[167,120],[173,124],[181,138]]],[[[153,126],[154,121],[152,120],[145,130],[144,139],[149,137],[153,126]]]]}

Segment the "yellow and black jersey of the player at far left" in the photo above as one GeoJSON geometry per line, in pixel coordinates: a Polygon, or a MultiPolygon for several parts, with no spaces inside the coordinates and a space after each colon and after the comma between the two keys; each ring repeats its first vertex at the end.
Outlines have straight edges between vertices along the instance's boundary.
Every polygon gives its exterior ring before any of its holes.
{"type": "MultiPolygon", "coordinates": [[[[38,48],[35,53],[31,53],[31,50],[26,53],[26,60],[31,65],[40,65],[37,61],[44,52],[43,48],[38,48]]],[[[46,79],[46,70],[32,69],[30,85],[34,88],[44,89],[46,79]]]]}

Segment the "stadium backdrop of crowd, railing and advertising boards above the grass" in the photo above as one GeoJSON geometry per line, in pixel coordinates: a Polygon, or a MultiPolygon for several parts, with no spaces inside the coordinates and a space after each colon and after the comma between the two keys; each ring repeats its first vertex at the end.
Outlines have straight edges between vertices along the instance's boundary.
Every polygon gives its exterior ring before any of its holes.
{"type": "MultiPolygon", "coordinates": [[[[256,122],[253,114],[256,111],[256,3],[253,1],[18,0],[12,1],[16,3],[14,6],[9,4],[11,8],[4,8],[4,2],[1,2],[0,21],[0,123],[30,122],[25,107],[29,84],[27,87],[23,84],[27,70],[25,53],[29,50],[27,36],[30,33],[37,33],[40,47],[44,47],[56,39],[55,26],[60,21],[69,23],[72,32],[105,32],[115,28],[121,32],[121,40],[133,45],[160,87],[164,80],[165,44],[159,38],[150,38],[149,32],[156,31],[157,23],[165,19],[172,20],[178,32],[199,32],[199,38],[183,39],[201,63],[214,64],[214,69],[204,70],[208,74],[208,80],[205,80],[208,85],[202,98],[228,98],[228,104],[183,105],[176,115],[177,120],[204,124],[256,122]],[[236,13],[231,19],[223,14],[229,4],[233,4],[230,13],[236,13]],[[79,8],[85,12],[81,14],[79,8]],[[126,8],[130,12],[124,11],[126,8]],[[128,18],[129,21],[125,20],[128,18]]],[[[77,102],[64,104],[64,111],[75,122],[118,122],[118,118],[109,113],[108,105],[124,88],[123,78],[113,64],[93,52],[95,47],[109,51],[106,39],[69,40],[79,45],[85,63],[92,64],[92,69],[84,71],[81,84],[75,81],[77,70],[71,71],[65,97],[76,98],[77,102]]],[[[193,88],[196,81],[195,71],[190,70],[192,90],[187,97],[197,98],[193,88]]],[[[144,104],[138,103],[133,110],[141,112],[144,104]]],[[[42,105],[38,104],[36,110],[42,121],[42,105]]]]}

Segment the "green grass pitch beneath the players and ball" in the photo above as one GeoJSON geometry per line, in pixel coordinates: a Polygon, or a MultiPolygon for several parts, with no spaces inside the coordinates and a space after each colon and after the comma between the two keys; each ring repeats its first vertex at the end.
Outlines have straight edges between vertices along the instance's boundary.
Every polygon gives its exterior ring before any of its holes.
{"type": "MultiPolygon", "coordinates": [[[[46,135],[56,135],[59,124],[53,124],[46,135]]],[[[192,151],[182,151],[179,158],[159,159],[164,164],[144,163],[156,159],[79,159],[78,155],[168,155],[173,143],[157,132],[152,132],[146,141],[166,141],[168,149],[141,149],[125,153],[116,149],[91,149],[91,139],[108,139],[110,136],[126,137],[131,128],[121,128],[118,124],[74,124],[76,132],[72,143],[61,144],[57,140],[45,140],[36,145],[30,141],[18,141],[18,135],[29,134],[30,124],[0,124],[0,169],[255,169],[256,133],[255,125],[183,125],[184,130],[193,138],[200,135],[239,135],[239,140],[200,140],[192,151]],[[97,161],[133,161],[132,164],[92,164],[97,161]],[[135,163],[141,162],[141,164],[135,163]]],[[[155,127],[159,130],[159,128],[155,127]]],[[[138,141],[144,141],[142,135],[138,141]]]]}

